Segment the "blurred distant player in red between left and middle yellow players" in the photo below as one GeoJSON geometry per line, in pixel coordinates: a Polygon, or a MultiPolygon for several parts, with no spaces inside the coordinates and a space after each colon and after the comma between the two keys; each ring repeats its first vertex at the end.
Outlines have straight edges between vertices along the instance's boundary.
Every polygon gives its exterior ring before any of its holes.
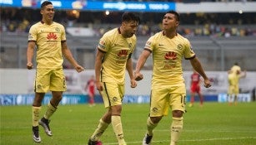
{"type": "Polygon", "coordinates": [[[84,88],[89,96],[89,106],[92,107],[94,106],[94,96],[95,96],[95,80],[94,80],[94,75],[91,76],[90,80],[88,80],[87,84],[85,85],[84,88]]]}

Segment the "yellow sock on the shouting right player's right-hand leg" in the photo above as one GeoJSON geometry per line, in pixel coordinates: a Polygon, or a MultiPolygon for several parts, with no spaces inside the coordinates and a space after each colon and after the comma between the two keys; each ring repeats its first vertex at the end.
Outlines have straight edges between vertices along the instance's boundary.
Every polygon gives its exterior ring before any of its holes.
{"type": "Polygon", "coordinates": [[[173,117],[173,123],[171,125],[171,144],[175,145],[183,129],[183,117],[173,117]]]}

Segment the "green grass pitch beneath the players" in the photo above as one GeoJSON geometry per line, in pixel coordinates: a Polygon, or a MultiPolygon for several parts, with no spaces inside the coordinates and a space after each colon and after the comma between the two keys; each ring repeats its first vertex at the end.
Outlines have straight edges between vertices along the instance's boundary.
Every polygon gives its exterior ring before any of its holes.
{"type": "MultiPolygon", "coordinates": [[[[1,106],[2,145],[30,145],[32,139],[31,106],[1,106]]],[[[42,114],[46,106],[43,106],[42,114]]],[[[255,145],[256,103],[205,103],[187,107],[183,133],[178,145],[255,145]]],[[[61,105],[51,118],[53,137],[40,127],[42,145],[85,145],[104,113],[103,104],[61,105]]],[[[123,131],[128,144],[141,145],[146,132],[148,104],[123,104],[123,131]]],[[[154,131],[153,145],[169,144],[170,116],[164,117],[154,131]]],[[[117,144],[110,125],[101,138],[104,145],[117,144]]]]}

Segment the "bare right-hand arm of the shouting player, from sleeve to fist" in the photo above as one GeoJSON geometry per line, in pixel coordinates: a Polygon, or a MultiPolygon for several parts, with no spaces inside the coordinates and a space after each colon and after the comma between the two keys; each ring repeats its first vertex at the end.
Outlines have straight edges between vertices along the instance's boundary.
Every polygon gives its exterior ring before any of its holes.
{"type": "Polygon", "coordinates": [[[203,77],[204,87],[206,88],[210,87],[211,86],[210,80],[208,80],[208,77],[205,74],[203,67],[200,61],[198,60],[198,58],[194,57],[192,60],[190,60],[190,63],[193,66],[193,69],[196,70],[203,77]]]}

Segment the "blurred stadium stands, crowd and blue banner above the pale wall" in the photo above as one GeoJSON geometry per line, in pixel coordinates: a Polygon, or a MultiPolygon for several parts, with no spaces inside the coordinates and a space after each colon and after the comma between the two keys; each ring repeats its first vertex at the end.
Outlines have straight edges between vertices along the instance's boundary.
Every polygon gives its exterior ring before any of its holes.
{"type": "MultiPolygon", "coordinates": [[[[40,0],[1,1],[0,68],[25,68],[28,30],[41,20],[40,0]],[[2,3],[1,3],[2,2],[2,3]]],[[[163,1],[53,1],[54,21],[66,27],[68,46],[84,67],[93,69],[95,48],[105,31],[119,27],[124,11],[138,13],[138,49],[161,30],[164,12],[180,13],[178,32],[188,37],[205,70],[228,70],[235,61],[246,70],[255,71],[256,1],[253,0],[163,0],[163,1]]],[[[148,60],[145,69],[151,69],[148,60]]],[[[184,70],[191,66],[183,64],[184,70]]],[[[71,66],[64,63],[64,67],[71,66]]]]}

